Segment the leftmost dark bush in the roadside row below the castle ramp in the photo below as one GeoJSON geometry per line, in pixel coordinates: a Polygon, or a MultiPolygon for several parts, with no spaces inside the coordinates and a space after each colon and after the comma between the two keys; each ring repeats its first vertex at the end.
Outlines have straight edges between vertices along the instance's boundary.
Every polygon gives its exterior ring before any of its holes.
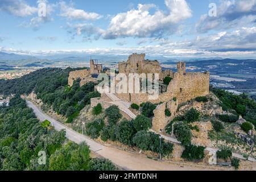
{"type": "Polygon", "coordinates": [[[92,122],[86,124],[86,134],[92,138],[98,138],[104,126],[103,119],[94,119],[92,122]]]}

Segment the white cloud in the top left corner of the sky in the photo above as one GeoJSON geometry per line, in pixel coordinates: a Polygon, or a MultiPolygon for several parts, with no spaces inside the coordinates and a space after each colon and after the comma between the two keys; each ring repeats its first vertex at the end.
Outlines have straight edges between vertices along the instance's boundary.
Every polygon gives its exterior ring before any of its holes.
{"type": "Polygon", "coordinates": [[[16,16],[31,16],[38,12],[37,7],[27,5],[23,0],[1,0],[0,10],[7,11],[16,16]]]}

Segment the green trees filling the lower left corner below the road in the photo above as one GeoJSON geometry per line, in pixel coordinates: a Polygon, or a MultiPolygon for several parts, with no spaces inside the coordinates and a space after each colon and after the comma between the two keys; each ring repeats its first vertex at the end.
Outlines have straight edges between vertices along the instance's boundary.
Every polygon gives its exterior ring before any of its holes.
{"type": "Polygon", "coordinates": [[[19,97],[9,107],[0,107],[0,170],[117,169],[109,160],[90,158],[85,143],[69,142],[65,131],[57,132],[45,123],[40,124],[19,97]]]}

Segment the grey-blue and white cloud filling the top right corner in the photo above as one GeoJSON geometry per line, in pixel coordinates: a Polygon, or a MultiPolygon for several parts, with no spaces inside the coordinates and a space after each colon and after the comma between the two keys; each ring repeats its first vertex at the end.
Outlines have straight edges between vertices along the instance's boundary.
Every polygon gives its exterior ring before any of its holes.
{"type": "Polygon", "coordinates": [[[217,6],[217,17],[201,15],[196,23],[198,32],[226,30],[247,26],[256,21],[256,0],[221,0],[217,6]]]}

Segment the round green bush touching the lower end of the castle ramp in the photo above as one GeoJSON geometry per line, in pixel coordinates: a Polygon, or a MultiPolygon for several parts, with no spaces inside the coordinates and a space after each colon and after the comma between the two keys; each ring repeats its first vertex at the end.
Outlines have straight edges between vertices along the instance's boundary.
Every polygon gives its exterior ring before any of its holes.
{"type": "Polygon", "coordinates": [[[151,128],[151,121],[149,118],[147,118],[144,115],[138,115],[134,120],[133,120],[133,126],[136,131],[141,131],[141,130],[148,130],[151,128]]]}

